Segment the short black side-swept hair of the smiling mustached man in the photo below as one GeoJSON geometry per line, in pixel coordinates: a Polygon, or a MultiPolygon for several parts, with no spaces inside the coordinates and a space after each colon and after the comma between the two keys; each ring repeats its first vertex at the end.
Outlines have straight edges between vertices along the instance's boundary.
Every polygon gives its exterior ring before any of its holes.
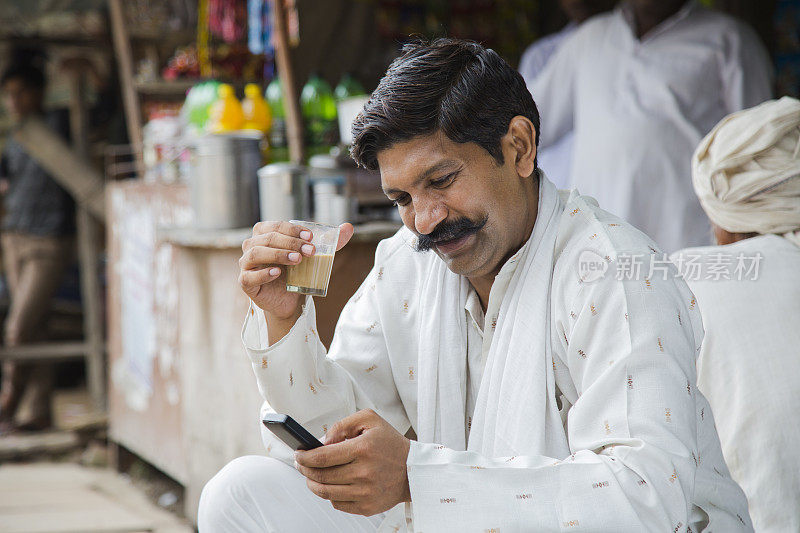
{"type": "Polygon", "coordinates": [[[381,150],[441,131],[454,142],[474,142],[502,165],[500,139],[518,115],[533,123],[538,145],[536,104],[522,76],[494,50],[458,39],[412,42],[353,122],[351,154],[377,170],[381,150]]]}

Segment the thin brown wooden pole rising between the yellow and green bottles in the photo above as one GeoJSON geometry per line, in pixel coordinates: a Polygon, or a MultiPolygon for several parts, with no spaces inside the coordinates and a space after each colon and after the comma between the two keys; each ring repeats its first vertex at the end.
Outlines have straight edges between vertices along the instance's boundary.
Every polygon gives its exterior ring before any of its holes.
{"type": "Polygon", "coordinates": [[[300,102],[297,99],[297,86],[294,69],[289,57],[289,35],[286,28],[286,8],[283,0],[270,0],[272,5],[272,24],[275,31],[275,63],[283,88],[283,102],[286,107],[286,137],[289,143],[289,158],[292,163],[303,164],[305,145],[303,143],[303,119],[300,115],[300,102]]]}

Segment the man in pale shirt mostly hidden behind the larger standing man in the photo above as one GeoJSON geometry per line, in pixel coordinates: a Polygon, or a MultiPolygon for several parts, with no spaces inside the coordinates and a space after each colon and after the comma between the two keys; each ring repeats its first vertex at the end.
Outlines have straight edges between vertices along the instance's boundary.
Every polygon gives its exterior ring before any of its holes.
{"type": "MultiPolygon", "coordinates": [[[[518,70],[525,83],[530,85],[536,79],[564,40],[581,24],[595,15],[608,11],[616,3],[617,0],[559,0],[558,5],[567,15],[569,22],[560,31],[542,37],[522,53],[518,70]]],[[[558,80],[553,82],[558,83],[558,80]]],[[[540,149],[537,155],[539,166],[547,171],[547,177],[558,189],[569,188],[573,142],[574,134],[569,131],[560,139],[547,143],[548,147],[540,149]]]]}

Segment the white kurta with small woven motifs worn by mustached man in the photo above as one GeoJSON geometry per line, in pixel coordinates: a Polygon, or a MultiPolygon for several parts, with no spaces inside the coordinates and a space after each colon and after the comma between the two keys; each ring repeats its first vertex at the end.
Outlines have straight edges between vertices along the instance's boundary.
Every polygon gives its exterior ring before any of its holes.
{"type": "MultiPolygon", "coordinates": [[[[430,371],[431,358],[434,366],[437,357],[442,365],[448,361],[444,352],[466,344],[465,327],[436,328],[447,316],[460,317],[454,324],[464,325],[469,284],[450,273],[453,283],[443,287],[455,287],[462,297],[436,294],[438,314],[429,312],[431,295],[424,287],[441,270],[441,260],[414,252],[405,230],[379,245],[375,267],[342,311],[329,353],[316,334],[311,298],[291,331],[271,347],[263,313],[251,308],[243,339],[262,395],[317,435],[363,408],[374,409],[401,433],[413,428],[421,442],[412,441],[408,457],[413,504],[407,512],[416,531],[700,531],[706,525],[750,530],[746,501],[729,477],[711,409],[696,391],[702,326],[688,287],[658,277],[616,280],[618,256],[650,258],[652,242],[583,197],[562,194],[556,202],[555,195],[543,180],[540,218],[543,206],[557,209],[551,218],[555,246],[544,254],[552,253],[555,264],[522,272],[543,281],[549,296],[508,290],[500,298],[497,291],[505,289],[498,283],[490,294],[485,331],[497,330],[493,346],[509,341],[501,332],[520,318],[534,319],[524,334],[537,340],[529,353],[490,354],[478,399],[490,411],[481,411],[480,424],[473,421],[470,451],[464,446],[466,424],[456,423],[459,410],[465,422],[467,354],[461,354],[460,368],[440,366],[439,381],[424,381],[422,372],[430,371]],[[580,278],[585,250],[608,262],[608,275],[591,283],[580,278]],[[511,300],[532,314],[504,315],[511,300]],[[541,307],[548,312],[539,321],[541,307]],[[442,353],[423,353],[431,336],[441,339],[442,353]],[[497,358],[520,355],[544,372],[541,388],[515,381],[535,373],[498,369],[497,358]],[[487,391],[494,390],[499,396],[487,401],[487,391]],[[514,398],[514,405],[504,398],[514,398]],[[495,420],[498,431],[486,433],[492,415],[501,412],[532,418],[495,420]],[[544,420],[533,426],[544,434],[526,433],[534,418],[544,420]],[[425,434],[444,435],[447,442],[424,442],[425,434]],[[519,435],[527,435],[530,445],[515,440],[519,435]],[[476,448],[512,450],[515,457],[476,448]]],[[[540,249],[540,235],[535,227],[526,244],[530,250],[540,249]]],[[[506,263],[498,277],[517,268],[509,285],[516,286],[524,266],[506,263]]],[[[272,439],[265,444],[275,448],[272,439]]]]}

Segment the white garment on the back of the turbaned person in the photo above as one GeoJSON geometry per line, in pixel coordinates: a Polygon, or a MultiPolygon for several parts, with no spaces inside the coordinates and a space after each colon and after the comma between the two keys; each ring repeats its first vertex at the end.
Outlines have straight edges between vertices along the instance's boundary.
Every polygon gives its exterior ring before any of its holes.
{"type": "Polygon", "coordinates": [[[800,531],[800,248],[763,235],[673,258],[704,267],[683,269],[706,328],[697,385],[714,409],[725,461],[747,495],[753,524],[757,531],[800,531]],[[757,273],[736,271],[740,256],[749,270],[757,254],[757,273]],[[715,264],[728,268],[717,275],[715,264]]]}

